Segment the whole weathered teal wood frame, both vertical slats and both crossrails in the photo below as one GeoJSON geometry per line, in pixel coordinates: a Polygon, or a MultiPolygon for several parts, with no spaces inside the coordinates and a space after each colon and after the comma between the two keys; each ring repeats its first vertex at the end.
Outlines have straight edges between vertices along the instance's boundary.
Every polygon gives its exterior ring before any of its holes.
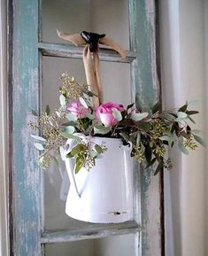
{"type": "MultiPolygon", "coordinates": [[[[160,100],[157,59],[157,1],[129,0],[130,50],[122,60],[101,50],[104,61],[131,66],[132,98],[143,107],[160,100]]],[[[135,234],[135,256],[164,255],[162,175],[135,166],[135,221],[76,230],[44,230],[42,175],[29,139],[30,109],[41,110],[42,55],[81,58],[81,47],[42,43],[38,0],[9,0],[9,130],[11,255],[44,255],[44,244],[135,234]]]]}

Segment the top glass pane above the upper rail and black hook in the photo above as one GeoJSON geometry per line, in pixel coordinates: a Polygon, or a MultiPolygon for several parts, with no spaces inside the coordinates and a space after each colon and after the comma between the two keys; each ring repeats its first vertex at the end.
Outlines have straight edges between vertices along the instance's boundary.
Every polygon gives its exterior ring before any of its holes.
{"type": "Polygon", "coordinates": [[[56,30],[70,34],[83,30],[106,34],[129,49],[126,0],[42,0],[42,41],[66,43],[56,30]]]}

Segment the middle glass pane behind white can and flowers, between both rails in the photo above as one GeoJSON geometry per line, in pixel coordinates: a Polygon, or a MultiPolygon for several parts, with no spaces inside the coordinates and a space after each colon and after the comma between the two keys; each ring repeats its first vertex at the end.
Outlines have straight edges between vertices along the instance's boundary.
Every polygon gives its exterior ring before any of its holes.
{"type": "MultiPolygon", "coordinates": [[[[100,63],[101,81],[104,89],[104,102],[116,101],[127,106],[131,102],[129,64],[100,63]]],[[[84,67],[81,59],[42,58],[42,106],[50,105],[51,111],[58,106],[59,77],[68,71],[77,80],[85,81],[84,67]]],[[[65,196],[68,191],[68,177],[65,165],[60,160],[59,170],[52,164],[43,172],[44,177],[44,215],[46,229],[73,229],[88,223],[76,221],[65,214],[65,196]]]]}

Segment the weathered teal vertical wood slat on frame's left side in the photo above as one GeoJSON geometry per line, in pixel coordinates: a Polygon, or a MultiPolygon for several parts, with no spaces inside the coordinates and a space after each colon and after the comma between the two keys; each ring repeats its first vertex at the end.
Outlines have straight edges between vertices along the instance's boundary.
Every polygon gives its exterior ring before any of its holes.
{"type": "Polygon", "coordinates": [[[12,202],[13,254],[39,256],[40,172],[27,126],[29,112],[39,109],[38,1],[10,0],[12,37],[12,202]]]}

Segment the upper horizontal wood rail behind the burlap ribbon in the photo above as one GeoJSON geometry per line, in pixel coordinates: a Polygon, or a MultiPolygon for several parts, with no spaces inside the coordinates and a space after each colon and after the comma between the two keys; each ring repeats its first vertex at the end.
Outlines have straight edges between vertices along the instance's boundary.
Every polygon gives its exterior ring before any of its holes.
{"type": "MultiPolygon", "coordinates": [[[[60,57],[60,58],[82,58],[83,47],[69,44],[58,43],[38,43],[38,48],[42,51],[43,56],[60,57]]],[[[136,58],[136,53],[127,50],[127,58],[123,59],[114,50],[99,50],[100,60],[131,63],[136,58]]]]}

